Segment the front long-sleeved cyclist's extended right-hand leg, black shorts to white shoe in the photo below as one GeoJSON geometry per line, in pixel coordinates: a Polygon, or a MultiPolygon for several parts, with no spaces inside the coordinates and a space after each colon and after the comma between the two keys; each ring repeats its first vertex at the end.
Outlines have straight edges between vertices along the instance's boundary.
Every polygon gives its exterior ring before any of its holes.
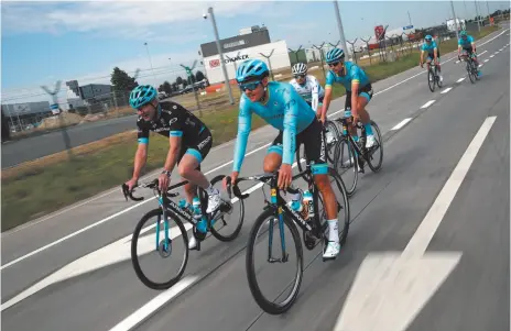
{"type": "Polygon", "coordinates": [[[301,132],[297,136],[298,142],[305,146],[307,162],[311,162],[314,181],[319,190],[326,210],[328,222],[328,245],[323,257],[335,257],[340,250],[338,220],[337,220],[337,201],[330,181],[328,180],[328,164],[326,161],[326,145],[323,140],[322,124],[318,120],[314,121],[301,132]]]}

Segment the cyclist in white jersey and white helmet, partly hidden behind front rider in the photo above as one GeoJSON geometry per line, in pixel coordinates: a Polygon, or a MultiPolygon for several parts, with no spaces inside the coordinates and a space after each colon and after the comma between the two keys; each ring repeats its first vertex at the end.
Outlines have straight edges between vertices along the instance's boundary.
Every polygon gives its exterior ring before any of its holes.
{"type": "Polygon", "coordinates": [[[317,81],[316,77],[307,75],[307,65],[297,63],[291,68],[291,73],[294,78],[290,80],[290,84],[294,89],[305,99],[308,106],[317,112],[317,106],[323,102],[325,97],[325,90],[317,81]]]}

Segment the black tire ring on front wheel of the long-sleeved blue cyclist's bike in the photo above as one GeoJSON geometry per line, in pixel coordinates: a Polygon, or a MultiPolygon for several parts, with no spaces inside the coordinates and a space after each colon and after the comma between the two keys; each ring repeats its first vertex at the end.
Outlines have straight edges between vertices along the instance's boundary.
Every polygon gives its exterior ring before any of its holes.
{"type": "Polygon", "coordinates": [[[247,279],[249,283],[250,291],[252,294],[253,299],[259,305],[259,307],[270,315],[281,315],[287,311],[293,306],[300,293],[300,287],[302,285],[302,279],[303,279],[303,247],[302,247],[302,241],[298,234],[298,230],[296,229],[296,225],[293,223],[293,221],[291,221],[284,214],[283,217],[284,223],[290,229],[293,240],[295,242],[296,257],[297,257],[297,263],[298,263],[297,274],[296,274],[293,290],[291,291],[291,295],[284,300],[282,305],[274,304],[273,301],[268,300],[264,297],[264,295],[261,293],[258,280],[256,278],[257,271],[253,265],[253,254],[256,250],[257,234],[259,233],[259,229],[265,223],[265,221],[269,218],[274,218],[274,217],[275,217],[274,210],[267,209],[258,217],[258,219],[253,223],[252,229],[250,231],[249,241],[247,243],[246,271],[247,271],[247,279]]]}

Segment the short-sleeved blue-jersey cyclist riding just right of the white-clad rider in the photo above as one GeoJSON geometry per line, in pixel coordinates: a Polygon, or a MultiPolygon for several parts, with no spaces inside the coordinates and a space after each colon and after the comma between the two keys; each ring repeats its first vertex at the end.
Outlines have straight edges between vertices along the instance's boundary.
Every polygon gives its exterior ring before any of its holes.
{"type": "Polygon", "coordinates": [[[334,82],[341,84],[346,88],[345,110],[350,109],[354,122],[350,134],[358,141],[357,122],[360,120],[367,133],[366,147],[374,145],[376,139],[372,132],[369,113],[366,106],[372,98],[372,87],[366,73],[352,62],[345,62],[345,53],[340,48],[334,48],[326,54],[326,63],[330,70],[326,75],[325,98],[323,99],[322,121],[325,122],[326,112],[330,106],[331,86],[334,82]]]}

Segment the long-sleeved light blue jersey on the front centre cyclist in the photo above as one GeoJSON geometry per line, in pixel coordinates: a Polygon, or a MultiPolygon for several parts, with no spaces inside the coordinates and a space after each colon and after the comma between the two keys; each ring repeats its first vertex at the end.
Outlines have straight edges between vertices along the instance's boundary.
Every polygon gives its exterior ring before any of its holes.
{"type": "Polygon", "coordinates": [[[283,131],[282,163],[293,164],[295,136],[311,125],[316,113],[291,84],[270,81],[264,103],[252,102],[244,93],[241,95],[232,169],[239,172],[243,163],[247,141],[252,126],[252,113],[257,113],[273,128],[283,131]]]}

